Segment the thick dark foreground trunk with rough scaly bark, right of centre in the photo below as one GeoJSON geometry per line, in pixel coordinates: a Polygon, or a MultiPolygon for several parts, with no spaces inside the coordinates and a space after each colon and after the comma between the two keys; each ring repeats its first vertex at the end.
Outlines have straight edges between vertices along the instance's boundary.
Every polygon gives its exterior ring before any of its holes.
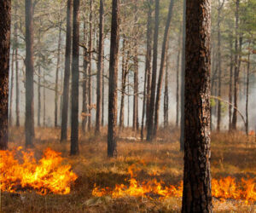
{"type": "Polygon", "coordinates": [[[185,137],[182,212],[212,212],[208,0],[186,3],[185,137]]]}

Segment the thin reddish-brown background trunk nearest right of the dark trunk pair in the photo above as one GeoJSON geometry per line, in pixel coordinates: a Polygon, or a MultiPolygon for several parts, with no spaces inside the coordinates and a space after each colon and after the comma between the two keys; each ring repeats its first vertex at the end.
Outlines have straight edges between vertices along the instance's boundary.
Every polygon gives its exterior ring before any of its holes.
{"type": "MultiPolygon", "coordinates": [[[[86,21],[84,19],[84,43],[86,43],[86,21]]],[[[87,81],[88,81],[88,52],[87,49],[84,48],[84,61],[83,61],[83,67],[84,67],[84,75],[83,75],[83,106],[82,106],[82,112],[84,113],[83,119],[82,119],[82,130],[83,133],[85,133],[85,128],[86,128],[86,122],[87,122],[87,112],[88,112],[88,107],[87,107],[87,81]]]]}

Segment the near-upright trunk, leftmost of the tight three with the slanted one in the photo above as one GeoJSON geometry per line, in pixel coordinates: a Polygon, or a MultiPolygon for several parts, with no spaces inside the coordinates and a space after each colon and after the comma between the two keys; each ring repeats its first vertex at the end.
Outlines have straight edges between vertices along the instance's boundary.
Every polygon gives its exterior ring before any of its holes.
{"type": "Polygon", "coordinates": [[[147,20],[147,54],[145,72],[147,73],[147,109],[146,109],[146,127],[148,126],[150,89],[151,89],[151,60],[152,60],[152,33],[153,33],[153,0],[148,0],[148,20],[147,20]]]}

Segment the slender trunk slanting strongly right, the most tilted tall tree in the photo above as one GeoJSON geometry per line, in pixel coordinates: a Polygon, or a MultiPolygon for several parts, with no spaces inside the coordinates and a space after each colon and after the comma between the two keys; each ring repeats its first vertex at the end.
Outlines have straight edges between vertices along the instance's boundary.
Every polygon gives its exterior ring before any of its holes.
{"type": "Polygon", "coordinates": [[[159,71],[159,78],[157,84],[157,92],[155,98],[155,106],[154,106],[154,135],[156,135],[156,131],[158,130],[158,123],[159,123],[159,108],[160,108],[160,97],[161,97],[161,89],[162,83],[164,78],[164,71],[165,71],[165,64],[166,64],[166,49],[167,43],[169,41],[169,32],[170,32],[170,25],[172,20],[172,8],[173,8],[174,0],[171,0],[168,16],[166,20],[166,29],[164,34],[164,40],[162,44],[162,54],[161,54],[161,62],[160,62],[160,71],[159,71]]]}

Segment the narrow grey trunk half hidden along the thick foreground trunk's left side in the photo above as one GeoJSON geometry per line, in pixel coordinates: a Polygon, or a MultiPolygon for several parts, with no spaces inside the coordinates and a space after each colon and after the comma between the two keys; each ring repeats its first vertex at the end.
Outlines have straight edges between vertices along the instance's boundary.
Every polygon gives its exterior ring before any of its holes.
{"type": "Polygon", "coordinates": [[[180,151],[184,150],[184,129],[185,129],[185,46],[186,46],[186,0],[183,0],[183,48],[181,65],[181,99],[180,99],[180,151]]]}

